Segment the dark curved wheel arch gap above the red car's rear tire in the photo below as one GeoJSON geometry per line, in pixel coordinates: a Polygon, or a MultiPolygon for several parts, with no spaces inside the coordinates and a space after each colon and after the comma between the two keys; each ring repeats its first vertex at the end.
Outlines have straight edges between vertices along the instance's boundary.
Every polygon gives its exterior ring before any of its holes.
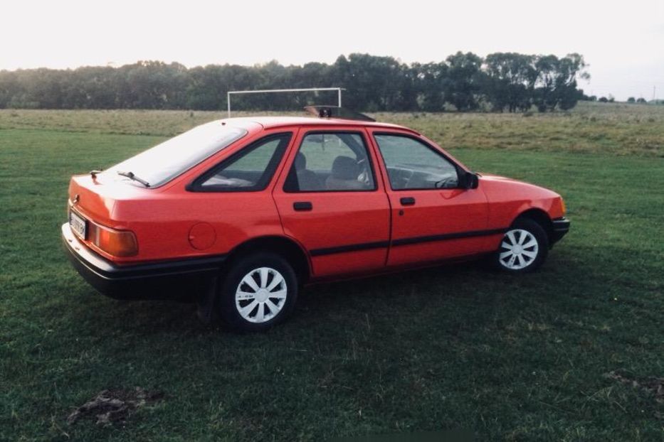
{"type": "Polygon", "coordinates": [[[228,261],[234,262],[253,252],[273,252],[285,258],[297,275],[300,283],[310,279],[312,274],[310,259],[305,250],[295,240],[278,235],[257,237],[234,247],[228,254],[228,261]]]}

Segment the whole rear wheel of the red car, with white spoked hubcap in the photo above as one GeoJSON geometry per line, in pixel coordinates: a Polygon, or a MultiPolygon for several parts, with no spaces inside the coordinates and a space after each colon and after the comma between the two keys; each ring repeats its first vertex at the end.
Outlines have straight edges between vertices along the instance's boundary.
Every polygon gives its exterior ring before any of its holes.
{"type": "Polygon", "coordinates": [[[259,252],[228,270],[218,292],[218,313],[232,328],[262,331],[284,320],[295,307],[297,277],[278,254],[259,252]]]}

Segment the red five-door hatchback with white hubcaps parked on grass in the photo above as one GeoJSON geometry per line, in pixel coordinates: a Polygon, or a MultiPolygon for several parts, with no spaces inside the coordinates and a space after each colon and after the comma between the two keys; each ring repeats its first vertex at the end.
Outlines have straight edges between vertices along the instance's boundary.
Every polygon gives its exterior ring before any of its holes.
{"type": "Polygon", "coordinates": [[[473,173],[406,127],[316,110],[210,122],[74,176],[71,262],[113,298],[189,296],[263,330],[302,284],[480,256],[532,271],[569,230],[551,190],[473,173]]]}

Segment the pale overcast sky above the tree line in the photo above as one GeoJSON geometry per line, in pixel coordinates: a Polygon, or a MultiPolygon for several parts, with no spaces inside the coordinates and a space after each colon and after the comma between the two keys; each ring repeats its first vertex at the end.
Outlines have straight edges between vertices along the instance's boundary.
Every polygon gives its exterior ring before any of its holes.
{"type": "Polygon", "coordinates": [[[586,94],[664,98],[664,0],[3,0],[0,11],[0,70],[576,52],[586,94]]]}

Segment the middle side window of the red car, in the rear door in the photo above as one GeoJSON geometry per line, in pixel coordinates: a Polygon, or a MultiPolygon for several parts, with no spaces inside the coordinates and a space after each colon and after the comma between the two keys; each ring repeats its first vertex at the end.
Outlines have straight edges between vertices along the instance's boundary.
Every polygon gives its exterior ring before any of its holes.
{"type": "Polygon", "coordinates": [[[362,135],[351,132],[307,134],[290,168],[284,190],[376,190],[371,158],[362,135]]]}

